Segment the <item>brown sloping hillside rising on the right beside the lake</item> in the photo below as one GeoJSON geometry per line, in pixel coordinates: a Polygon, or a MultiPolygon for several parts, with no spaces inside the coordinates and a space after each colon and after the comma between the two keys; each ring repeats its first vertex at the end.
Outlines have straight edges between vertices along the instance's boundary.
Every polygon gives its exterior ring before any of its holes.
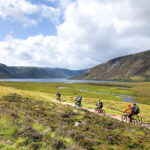
{"type": "Polygon", "coordinates": [[[150,81],[150,50],[112,59],[76,79],[150,81]]]}

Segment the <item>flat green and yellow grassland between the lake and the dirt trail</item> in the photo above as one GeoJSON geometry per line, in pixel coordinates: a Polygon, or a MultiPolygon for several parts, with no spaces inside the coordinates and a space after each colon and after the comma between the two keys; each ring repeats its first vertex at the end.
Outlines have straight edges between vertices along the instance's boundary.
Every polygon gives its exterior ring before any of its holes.
{"type": "Polygon", "coordinates": [[[55,94],[57,92],[61,92],[62,99],[70,103],[74,103],[74,99],[77,95],[82,95],[83,106],[92,109],[95,108],[95,104],[98,98],[100,98],[104,103],[104,110],[107,113],[118,115],[122,114],[122,112],[127,107],[128,103],[122,102],[121,98],[119,96],[115,96],[114,94],[137,96],[137,102],[145,103],[138,104],[141,110],[140,115],[142,116],[144,122],[150,122],[150,106],[146,105],[150,102],[150,82],[85,84],[0,82],[0,86],[0,95],[17,91],[19,92],[19,94],[22,94],[24,96],[30,96],[31,98],[38,99],[39,97],[41,97],[42,99],[47,99],[43,96],[55,98],[55,94]],[[62,89],[60,87],[67,88],[62,89]],[[83,92],[77,91],[76,89],[87,91],[99,91],[105,93],[102,94],[94,92],[83,92]]]}

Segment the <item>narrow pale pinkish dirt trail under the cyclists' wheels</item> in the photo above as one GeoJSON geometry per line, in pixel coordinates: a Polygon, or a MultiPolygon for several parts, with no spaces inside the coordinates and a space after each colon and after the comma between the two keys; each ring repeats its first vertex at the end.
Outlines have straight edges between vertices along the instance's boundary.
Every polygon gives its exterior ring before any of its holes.
{"type": "MultiPolygon", "coordinates": [[[[51,99],[50,97],[44,96],[44,95],[40,95],[40,96],[45,97],[45,98],[47,98],[47,99],[50,99],[50,100],[52,100],[52,101],[55,101],[55,102],[57,102],[57,103],[61,103],[61,104],[63,104],[63,105],[69,105],[69,106],[72,106],[72,107],[76,107],[74,104],[71,104],[71,103],[67,103],[67,102],[63,102],[63,101],[58,101],[58,100],[56,100],[56,99],[51,99]]],[[[92,113],[95,113],[96,115],[102,115],[102,114],[96,113],[94,109],[89,109],[89,108],[86,108],[86,107],[82,107],[81,110],[85,110],[85,111],[88,111],[88,112],[92,112],[92,113]]],[[[110,118],[117,119],[117,120],[119,120],[119,121],[122,121],[122,120],[121,120],[121,116],[119,116],[119,115],[113,115],[113,114],[107,114],[107,113],[105,113],[105,116],[110,117],[110,118]]],[[[125,122],[125,123],[126,123],[126,122],[125,122]]],[[[139,125],[137,125],[137,126],[139,126],[139,125]]],[[[148,129],[150,129],[150,124],[149,124],[149,123],[142,123],[140,126],[146,127],[146,128],[148,128],[148,129]]]]}

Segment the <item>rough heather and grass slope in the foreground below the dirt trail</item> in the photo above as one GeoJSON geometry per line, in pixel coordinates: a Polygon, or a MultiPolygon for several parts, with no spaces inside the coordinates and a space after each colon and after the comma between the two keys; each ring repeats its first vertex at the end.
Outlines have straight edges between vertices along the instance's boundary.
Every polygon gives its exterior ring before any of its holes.
{"type": "Polygon", "coordinates": [[[149,150],[150,130],[41,98],[0,98],[0,149],[149,150]]]}

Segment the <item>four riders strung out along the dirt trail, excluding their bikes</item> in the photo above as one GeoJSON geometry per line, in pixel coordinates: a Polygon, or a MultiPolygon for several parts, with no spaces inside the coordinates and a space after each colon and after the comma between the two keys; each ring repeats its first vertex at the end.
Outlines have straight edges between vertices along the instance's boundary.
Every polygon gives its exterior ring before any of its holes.
{"type": "MultiPolygon", "coordinates": [[[[60,93],[56,93],[56,99],[61,101],[61,94],[60,93]]],[[[77,98],[75,99],[75,105],[78,107],[82,107],[82,96],[77,96],[77,98]]],[[[96,110],[98,111],[98,113],[102,112],[102,108],[103,108],[103,102],[98,99],[98,102],[96,103],[96,110]]],[[[127,114],[127,117],[129,118],[129,122],[132,122],[132,116],[133,115],[137,115],[139,114],[140,109],[136,104],[128,104],[127,108],[125,109],[125,111],[123,113],[127,114]]]]}

